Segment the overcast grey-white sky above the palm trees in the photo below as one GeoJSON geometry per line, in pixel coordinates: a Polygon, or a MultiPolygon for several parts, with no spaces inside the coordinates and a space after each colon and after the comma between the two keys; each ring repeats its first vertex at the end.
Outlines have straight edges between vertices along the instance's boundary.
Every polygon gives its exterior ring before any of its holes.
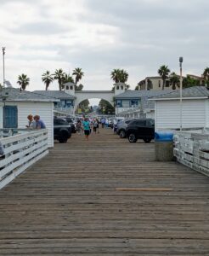
{"type": "Polygon", "coordinates": [[[181,55],[184,74],[201,75],[209,66],[208,9],[208,0],[0,0],[6,79],[15,87],[25,73],[27,90],[44,90],[46,70],[82,67],[84,90],[110,90],[110,72],[123,68],[134,89],[161,65],[178,73],[181,55]]]}

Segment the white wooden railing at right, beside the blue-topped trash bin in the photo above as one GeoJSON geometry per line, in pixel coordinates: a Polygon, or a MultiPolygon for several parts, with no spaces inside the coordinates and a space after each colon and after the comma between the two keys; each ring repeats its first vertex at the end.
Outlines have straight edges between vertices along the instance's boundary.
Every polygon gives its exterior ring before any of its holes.
{"type": "Polygon", "coordinates": [[[209,176],[209,134],[176,131],[173,141],[178,162],[209,176]]]}

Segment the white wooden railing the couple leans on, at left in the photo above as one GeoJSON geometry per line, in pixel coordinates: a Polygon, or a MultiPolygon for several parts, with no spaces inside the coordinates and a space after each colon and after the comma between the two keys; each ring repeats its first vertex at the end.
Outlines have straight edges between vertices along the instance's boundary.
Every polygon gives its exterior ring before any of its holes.
{"type": "Polygon", "coordinates": [[[0,156],[0,189],[10,183],[26,168],[48,154],[48,130],[25,133],[0,139],[3,156],[0,156]]]}

